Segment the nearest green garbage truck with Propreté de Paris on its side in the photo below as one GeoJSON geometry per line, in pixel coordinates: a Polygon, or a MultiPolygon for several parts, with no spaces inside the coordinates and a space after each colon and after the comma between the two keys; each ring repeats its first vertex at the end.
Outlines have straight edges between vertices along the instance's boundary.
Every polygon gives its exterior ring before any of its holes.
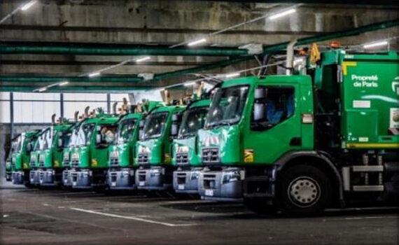
{"type": "Polygon", "coordinates": [[[326,50],[302,72],[223,83],[198,132],[202,198],[305,215],[399,196],[398,53],[326,50]]]}

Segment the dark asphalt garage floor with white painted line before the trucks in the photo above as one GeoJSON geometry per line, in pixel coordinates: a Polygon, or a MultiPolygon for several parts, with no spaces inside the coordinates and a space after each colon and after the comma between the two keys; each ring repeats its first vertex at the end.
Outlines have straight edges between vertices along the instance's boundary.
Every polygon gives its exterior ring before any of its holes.
{"type": "Polygon", "coordinates": [[[258,216],[239,203],[0,185],[1,244],[399,244],[398,208],[258,216]]]}

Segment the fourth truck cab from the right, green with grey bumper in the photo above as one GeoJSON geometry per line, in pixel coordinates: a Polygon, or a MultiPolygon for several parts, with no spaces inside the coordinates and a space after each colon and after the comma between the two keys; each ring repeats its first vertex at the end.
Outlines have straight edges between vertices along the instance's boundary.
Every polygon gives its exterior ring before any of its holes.
{"type": "Polygon", "coordinates": [[[109,146],[106,181],[111,190],[134,190],[134,153],[139,139],[141,113],[127,113],[118,122],[113,144],[109,146]]]}

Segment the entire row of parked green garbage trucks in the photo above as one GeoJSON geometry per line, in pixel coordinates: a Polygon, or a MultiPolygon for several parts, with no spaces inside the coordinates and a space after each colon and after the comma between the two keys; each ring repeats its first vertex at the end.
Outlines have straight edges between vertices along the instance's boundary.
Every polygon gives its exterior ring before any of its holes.
{"type": "Polygon", "coordinates": [[[13,139],[8,179],[174,190],[293,215],[398,202],[397,52],[326,50],[295,74],[225,80],[188,105],[87,114],[13,139]]]}

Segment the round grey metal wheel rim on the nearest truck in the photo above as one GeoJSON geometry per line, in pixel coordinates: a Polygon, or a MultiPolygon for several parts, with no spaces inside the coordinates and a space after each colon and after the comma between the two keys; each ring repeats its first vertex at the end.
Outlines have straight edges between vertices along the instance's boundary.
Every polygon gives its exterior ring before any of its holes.
{"type": "Polygon", "coordinates": [[[300,176],[290,182],[288,197],[297,207],[311,207],[320,198],[320,186],[309,176],[300,176]]]}

